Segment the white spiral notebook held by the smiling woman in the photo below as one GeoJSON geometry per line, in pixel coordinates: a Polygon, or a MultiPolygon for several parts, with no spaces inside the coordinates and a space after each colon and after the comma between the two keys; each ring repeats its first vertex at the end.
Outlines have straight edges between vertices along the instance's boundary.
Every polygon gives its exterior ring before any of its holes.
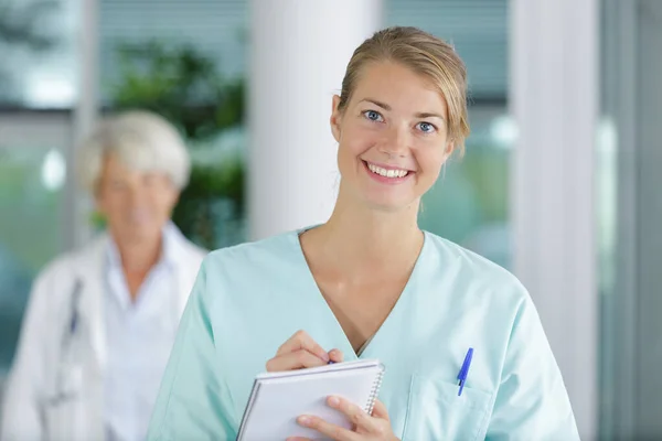
{"type": "Polygon", "coordinates": [[[323,440],[319,432],[297,424],[297,417],[301,415],[314,415],[349,429],[351,423],[346,417],[330,408],[327,398],[344,397],[372,413],[383,375],[384,366],[377,359],[260,374],[253,384],[237,441],[288,437],[323,440]]]}

